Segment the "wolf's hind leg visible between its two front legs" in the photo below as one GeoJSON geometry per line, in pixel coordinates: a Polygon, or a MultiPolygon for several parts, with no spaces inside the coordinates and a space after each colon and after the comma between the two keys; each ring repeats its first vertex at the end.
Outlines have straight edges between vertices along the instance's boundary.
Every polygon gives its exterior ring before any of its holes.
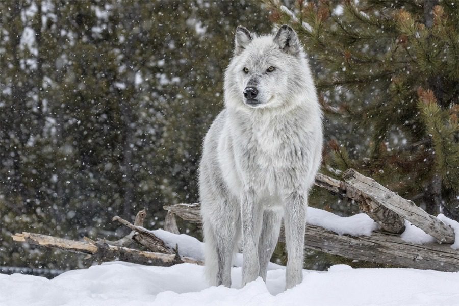
{"type": "Polygon", "coordinates": [[[259,276],[266,282],[266,274],[268,272],[268,263],[279,238],[279,230],[281,229],[282,213],[277,211],[267,210],[263,213],[263,225],[258,244],[258,256],[260,259],[259,276]]]}

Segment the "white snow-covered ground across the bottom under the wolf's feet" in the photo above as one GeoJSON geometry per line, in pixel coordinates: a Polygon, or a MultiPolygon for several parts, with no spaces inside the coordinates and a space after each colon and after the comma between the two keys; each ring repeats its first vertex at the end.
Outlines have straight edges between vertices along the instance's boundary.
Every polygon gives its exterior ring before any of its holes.
{"type": "Polygon", "coordinates": [[[0,305],[459,305],[459,273],[415,269],[303,271],[303,282],[284,291],[285,270],[268,271],[241,288],[241,268],[232,269],[233,288],[209,287],[203,267],[105,263],[65,272],[54,279],[0,274],[0,305]]]}

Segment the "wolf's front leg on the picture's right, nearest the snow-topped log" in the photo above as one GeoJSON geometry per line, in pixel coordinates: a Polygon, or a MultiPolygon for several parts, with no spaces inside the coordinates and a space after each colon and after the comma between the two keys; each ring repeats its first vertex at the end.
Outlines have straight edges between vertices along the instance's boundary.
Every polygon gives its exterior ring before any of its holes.
{"type": "Polygon", "coordinates": [[[303,249],[307,206],[307,195],[300,192],[292,192],[287,196],[284,217],[288,257],[286,289],[301,283],[303,279],[303,249]]]}

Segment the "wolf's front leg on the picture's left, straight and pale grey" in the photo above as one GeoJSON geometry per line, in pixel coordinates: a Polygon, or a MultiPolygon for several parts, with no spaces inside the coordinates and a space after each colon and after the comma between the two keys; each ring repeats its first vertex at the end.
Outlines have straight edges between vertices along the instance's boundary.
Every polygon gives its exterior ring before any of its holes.
{"type": "Polygon", "coordinates": [[[242,286],[258,277],[260,260],[258,242],[260,239],[263,211],[255,202],[253,190],[244,192],[241,199],[242,219],[242,286]]]}

